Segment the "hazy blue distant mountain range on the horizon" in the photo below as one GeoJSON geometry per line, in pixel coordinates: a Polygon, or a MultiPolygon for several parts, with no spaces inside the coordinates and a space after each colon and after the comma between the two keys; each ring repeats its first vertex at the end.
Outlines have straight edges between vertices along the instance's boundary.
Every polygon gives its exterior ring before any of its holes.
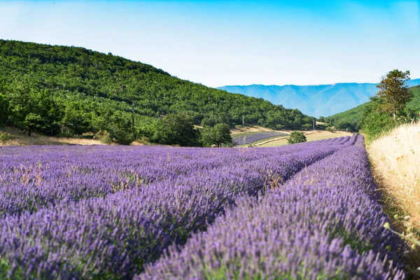
{"type": "MultiPolygon", "coordinates": [[[[332,85],[226,85],[218,89],[268,100],[285,108],[296,108],[309,116],[331,116],[369,101],[376,83],[336,83],[332,85]]],[[[410,87],[420,78],[409,80],[410,87]]]]}

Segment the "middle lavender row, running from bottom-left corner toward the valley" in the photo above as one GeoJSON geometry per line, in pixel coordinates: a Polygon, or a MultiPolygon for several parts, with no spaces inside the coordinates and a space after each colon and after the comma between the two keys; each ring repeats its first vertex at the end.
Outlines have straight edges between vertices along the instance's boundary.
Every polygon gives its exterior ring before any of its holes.
{"type": "Polygon", "coordinates": [[[205,230],[225,207],[235,204],[238,195],[255,196],[278,187],[339,147],[160,149],[155,153],[172,153],[181,159],[197,154],[209,158],[212,153],[225,165],[203,167],[104,198],[5,216],[0,220],[0,278],[130,278],[169,245],[185,244],[193,232],[205,230]],[[239,160],[232,161],[233,156],[239,160]]]}

